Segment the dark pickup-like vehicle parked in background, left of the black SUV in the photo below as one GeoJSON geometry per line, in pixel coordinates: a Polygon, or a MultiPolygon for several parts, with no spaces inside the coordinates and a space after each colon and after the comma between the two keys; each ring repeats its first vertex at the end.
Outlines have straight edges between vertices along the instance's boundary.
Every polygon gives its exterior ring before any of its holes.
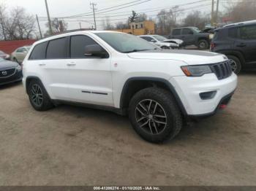
{"type": "Polygon", "coordinates": [[[208,49],[211,42],[210,34],[204,33],[196,27],[175,28],[169,39],[181,39],[184,41],[184,46],[195,45],[202,50],[208,49]]]}

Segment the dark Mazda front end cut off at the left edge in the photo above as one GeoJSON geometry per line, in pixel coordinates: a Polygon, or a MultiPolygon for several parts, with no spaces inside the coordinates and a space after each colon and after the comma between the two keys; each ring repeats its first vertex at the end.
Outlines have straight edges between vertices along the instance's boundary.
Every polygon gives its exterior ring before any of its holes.
{"type": "Polygon", "coordinates": [[[0,85],[22,80],[22,69],[18,63],[0,58],[0,85]]]}

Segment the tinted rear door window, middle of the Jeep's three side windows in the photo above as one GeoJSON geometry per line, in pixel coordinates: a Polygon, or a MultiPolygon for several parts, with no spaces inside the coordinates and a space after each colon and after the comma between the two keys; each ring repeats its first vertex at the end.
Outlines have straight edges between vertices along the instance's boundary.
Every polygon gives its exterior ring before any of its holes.
{"type": "Polygon", "coordinates": [[[46,58],[66,58],[66,38],[51,40],[48,44],[46,58]]]}

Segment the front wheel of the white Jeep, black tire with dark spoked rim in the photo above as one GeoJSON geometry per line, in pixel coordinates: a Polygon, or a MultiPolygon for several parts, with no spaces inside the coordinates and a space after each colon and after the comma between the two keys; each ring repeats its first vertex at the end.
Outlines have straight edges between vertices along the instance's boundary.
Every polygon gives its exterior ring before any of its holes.
{"type": "MultiPolygon", "coordinates": [[[[146,112],[146,110],[143,110],[143,112],[146,112]]],[[[146,115],[142,116],[145,117],[146,115]]],[[[183,125],[183,118],[173,95],[167,90],[157,87],[140,90],[132,97],[129,102],[129,120],[135,131],[143,139],[152,143],[161,143],[173,139],[178,135],[183,125]],[[148,106],[146,101],[149,102],[148,106]],[[156,106],[155,103],[158,104],[157,109],[153,109],[156,106]],[[147,118],[143,120],[138,119],[140,118],[138,115],[142,114],[141,109],[143,109],[143,107],[140,108],[140,104],[143,104],[145,109],[150,108],[148,109],[150,112],[147,113],[147,118]],[[160,116],[165,116],[165,118],[158,118],[160,116]],[[142,126],[148,120],[149,122],[142,126]],[[157,122],[165,122],[165,127],[164,124],[157,122]]]]}

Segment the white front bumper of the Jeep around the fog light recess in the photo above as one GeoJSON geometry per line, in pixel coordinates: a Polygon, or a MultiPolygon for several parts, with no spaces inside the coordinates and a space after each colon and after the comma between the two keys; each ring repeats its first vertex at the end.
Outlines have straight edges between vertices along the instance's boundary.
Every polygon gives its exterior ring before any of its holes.
{"type": "Polygon", "coordinates": [[[222,101],[232,97],[237,87],[237,76],[233,73],[219,80],[215,74],[205,74],[203,77],[173,77],[170,82],[175,86],[188,116],[205,116],[214,114],[222,101]],[[200,98],[200,93],[211,91],[216,91],[213,98],[200,98]]]}

